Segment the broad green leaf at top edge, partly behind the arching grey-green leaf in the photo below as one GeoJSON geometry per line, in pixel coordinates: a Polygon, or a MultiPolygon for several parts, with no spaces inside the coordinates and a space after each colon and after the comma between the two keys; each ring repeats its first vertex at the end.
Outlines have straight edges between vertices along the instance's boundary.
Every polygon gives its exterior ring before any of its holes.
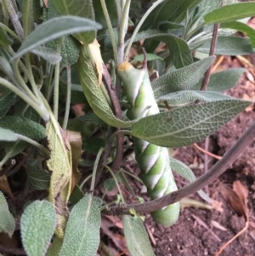
{"type": "MultiPolygon", "coordinates": [[[[52,0],[55,7],[62,15],[74,15],[94,20],[94,8],[92,0],[52,0]]],[[[77,33],[74,35],[82,43],[93,43],[96,37],[95,31],[77,33]]]]}

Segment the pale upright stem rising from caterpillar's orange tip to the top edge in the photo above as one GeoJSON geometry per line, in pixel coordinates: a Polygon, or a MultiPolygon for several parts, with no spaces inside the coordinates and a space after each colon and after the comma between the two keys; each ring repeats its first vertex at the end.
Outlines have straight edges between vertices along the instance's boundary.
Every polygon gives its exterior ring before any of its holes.
{"type": "Polygon", "coordinates": [[[122,14],[122,23],[119,28],[119,40],[118,40],[118,59],[117,59],[117,65],[120,65],[123,62],[123,56],[124,56],[124,39],[127,32],[127,23],[128,23],[128,13],[129,13],[129,7],[130,7],[131,0],[127,0],[123,9],[122,14]]]}

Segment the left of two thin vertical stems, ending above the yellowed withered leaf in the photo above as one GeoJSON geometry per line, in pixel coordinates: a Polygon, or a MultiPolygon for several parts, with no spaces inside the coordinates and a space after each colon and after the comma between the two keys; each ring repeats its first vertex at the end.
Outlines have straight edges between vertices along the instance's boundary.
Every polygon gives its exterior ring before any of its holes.
{"type": "MultiPolygon", "coordinates": [[[[57,53],[60,54],[61,51],[62,37],[59,38],[57,53]]],[[[60,71],[60,62],[55,65],[55,75],[54,75],[54,117],[58,121],[59,114],[59,71],[60,71]]]]}

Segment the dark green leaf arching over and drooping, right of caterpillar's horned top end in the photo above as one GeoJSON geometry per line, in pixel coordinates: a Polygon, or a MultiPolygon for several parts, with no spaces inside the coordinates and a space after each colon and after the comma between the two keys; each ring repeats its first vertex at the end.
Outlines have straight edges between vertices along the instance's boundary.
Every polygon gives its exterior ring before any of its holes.
{"type": "Polygon", "coordinates": [[[173,34],[162,33],[158,30],[148,30],[139,32],[134,38],[134,42],[149,38],[167,44],[167,48],[169,48],[173,64],[176,68],[181,68],[193,63],[190,48],[183,39],[176,37],[173,34]]]}

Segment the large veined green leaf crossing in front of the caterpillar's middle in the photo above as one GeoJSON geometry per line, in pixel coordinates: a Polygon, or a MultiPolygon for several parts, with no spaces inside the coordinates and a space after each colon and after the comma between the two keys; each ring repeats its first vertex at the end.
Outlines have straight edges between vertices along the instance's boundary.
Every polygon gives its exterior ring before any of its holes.
{"type": "Polygon", "coordinates": [[[251,102],[219,100],[183,106],[150,117],[131,127],[133,136],[155,145],[180,147],[191,145],[215,132],[251,102]]]}

